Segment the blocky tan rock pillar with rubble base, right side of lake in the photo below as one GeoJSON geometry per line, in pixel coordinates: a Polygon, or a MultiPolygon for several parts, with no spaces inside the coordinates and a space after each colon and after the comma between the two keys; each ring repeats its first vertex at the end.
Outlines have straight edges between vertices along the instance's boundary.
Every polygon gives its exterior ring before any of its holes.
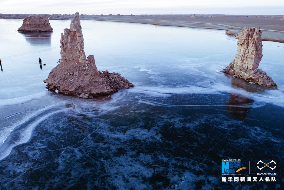
{"type": "Polygon", "coordinates": [[[267,76],[266,72],[257,69],[263,56],[260,29],[245,27],[236,38],[238,38],[237,54],[233,62],[222,72],[243,78],[250,83],[276,88],[277,85],[272,78],[267,76]]]}

